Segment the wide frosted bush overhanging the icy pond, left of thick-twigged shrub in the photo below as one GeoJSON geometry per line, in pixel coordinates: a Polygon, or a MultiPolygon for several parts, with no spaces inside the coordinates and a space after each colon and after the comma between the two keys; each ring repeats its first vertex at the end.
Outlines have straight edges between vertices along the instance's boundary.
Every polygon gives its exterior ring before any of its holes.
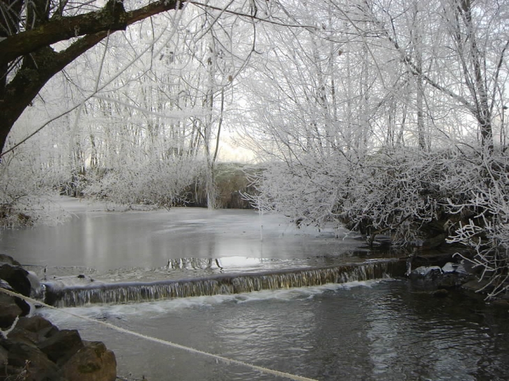
{"type": "Polygon", "coordinates": [[[440,218],[440,165],[417,150],[273,163],[255,180],[254,203],[299,223],[344,224],[371,240],[386,233],[401,244],[422,241],[440,218]]]}

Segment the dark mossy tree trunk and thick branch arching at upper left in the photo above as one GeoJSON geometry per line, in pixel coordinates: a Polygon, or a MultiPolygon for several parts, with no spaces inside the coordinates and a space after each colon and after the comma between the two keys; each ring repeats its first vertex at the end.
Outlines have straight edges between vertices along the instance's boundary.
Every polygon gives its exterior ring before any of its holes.
{"type": "Polygon", "coordinates": [[[109,33],[182,6],[150,1],[2,0],[0,2],[0,148],[17,118],[56,73],[109,33]],[[134,5],[134,4],[133,4],[134,5]]]}

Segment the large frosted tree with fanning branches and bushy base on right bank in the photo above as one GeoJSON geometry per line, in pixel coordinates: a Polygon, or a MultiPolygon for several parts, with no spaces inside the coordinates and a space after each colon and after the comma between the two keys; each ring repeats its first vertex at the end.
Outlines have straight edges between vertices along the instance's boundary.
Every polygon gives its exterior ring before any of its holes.
{"type": "Polygon", "coordinates": [[[440,226],[450,182],[439,169],[462,183],[448,160],[506,149],[493,140],[506,130],[505,8],[456,0],[293,7],[310,27],[267,33],[266,54],[246,72],[255,94],[245,98],[247,141],[268,161],[258,179],[264,205],[400,242],[450,233],[440,226]]]}

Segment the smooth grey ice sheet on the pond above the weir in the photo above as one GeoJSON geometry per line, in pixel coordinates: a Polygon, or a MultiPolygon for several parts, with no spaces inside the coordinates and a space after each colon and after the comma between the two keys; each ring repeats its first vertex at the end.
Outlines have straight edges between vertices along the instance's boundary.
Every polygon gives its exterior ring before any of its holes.
{"type": "Polygon", "coordinates": [[[282,216],[260,219],[253,210],[81,210],[65,225],[1,231],[0,251],[26,265],[105,272],[164,267],[178,258],[339,256],[358,246],[351,238],[335,239],[335,233],[296,229],[282,216]]]}

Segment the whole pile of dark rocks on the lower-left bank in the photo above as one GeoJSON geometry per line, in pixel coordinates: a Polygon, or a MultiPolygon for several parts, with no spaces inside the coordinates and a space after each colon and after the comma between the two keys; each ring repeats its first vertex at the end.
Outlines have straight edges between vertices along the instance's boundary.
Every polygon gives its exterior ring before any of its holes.
{"type": "MultiPolygon", "coordinates": [[[[0,254],[0,288],[30,297],[38,283],[10,256],[0,254]]],[[[114,381],[116,359],[100,341],[58,329],[31,306],[0,290],[0,381],[114,381]]]]}

